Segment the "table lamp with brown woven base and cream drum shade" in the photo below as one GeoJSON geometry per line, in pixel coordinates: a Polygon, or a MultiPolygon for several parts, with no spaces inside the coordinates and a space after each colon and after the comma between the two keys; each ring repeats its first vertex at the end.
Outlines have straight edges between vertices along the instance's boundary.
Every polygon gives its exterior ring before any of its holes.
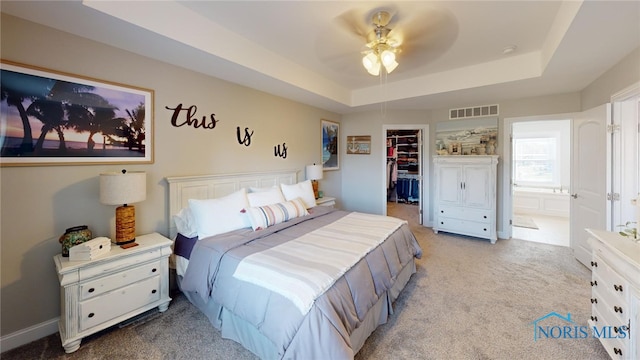
{"type": "Polygon", "coordinates": [[[147,176],[144,171],[111,172],[100,174],[100,202],[120,205],[116,209],[117,245],[135,243],[136,209],[132,203],[147,197],[147,176]]]}

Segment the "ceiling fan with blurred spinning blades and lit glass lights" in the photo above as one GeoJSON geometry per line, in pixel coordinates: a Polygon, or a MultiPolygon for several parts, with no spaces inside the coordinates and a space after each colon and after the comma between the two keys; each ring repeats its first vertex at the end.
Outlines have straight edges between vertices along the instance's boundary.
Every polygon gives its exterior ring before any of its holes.
{"type": "Polygon", "coordinates": [[[447,8],[396,2],[374,10],[357,7],[341,13],[320,32],[317,49],[321,59],[335,70],[357,74],[356,59],[360,59],[359,69],[364,66],[369,74],[378,76],[383,71],[399,68],[405,73],[428,64],[444,53],[457,35],[457,20],[447,8]]]}

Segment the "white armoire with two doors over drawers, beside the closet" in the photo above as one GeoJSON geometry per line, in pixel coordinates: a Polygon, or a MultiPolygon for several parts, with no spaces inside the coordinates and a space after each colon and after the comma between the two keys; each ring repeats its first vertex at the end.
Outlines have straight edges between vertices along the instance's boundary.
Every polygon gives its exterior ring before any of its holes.
{"type": "Polygon", "coordinates": [[[496,233],[497,155],[433,157],[433,231],[491,240],[496,233]]]}

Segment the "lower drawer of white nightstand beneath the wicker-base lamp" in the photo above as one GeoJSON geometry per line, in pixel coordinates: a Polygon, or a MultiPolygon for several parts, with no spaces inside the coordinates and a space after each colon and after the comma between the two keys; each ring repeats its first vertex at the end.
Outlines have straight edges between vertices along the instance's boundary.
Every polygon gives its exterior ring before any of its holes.
{"type": "Polygon", "coordinates": [[[80,303],[80,331],[115,319],[160,300],[160,276],[106,293],[80,303]]]}

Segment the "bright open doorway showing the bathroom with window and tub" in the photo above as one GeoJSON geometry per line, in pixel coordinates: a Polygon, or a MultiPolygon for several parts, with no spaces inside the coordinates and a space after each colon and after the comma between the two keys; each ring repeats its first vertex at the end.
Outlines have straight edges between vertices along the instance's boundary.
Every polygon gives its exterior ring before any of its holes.
{"type": "Polygon", "coordinates": [[[514,239],[570,246],[571,120],[511,125],[514,239]]]}

